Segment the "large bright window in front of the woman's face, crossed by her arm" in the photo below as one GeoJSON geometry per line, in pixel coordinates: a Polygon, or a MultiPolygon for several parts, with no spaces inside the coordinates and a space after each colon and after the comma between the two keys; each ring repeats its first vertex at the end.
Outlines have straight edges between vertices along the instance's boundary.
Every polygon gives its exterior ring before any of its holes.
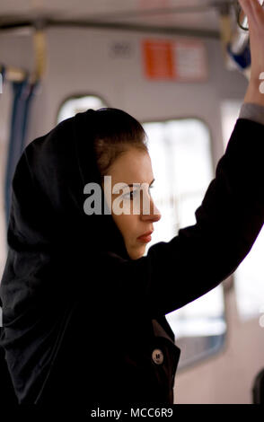
{"type": "MultiPolygon", "coordinates": [[[[162,213],[147,253],[155,242],[168,242],[180,228],[196,223],[194,213],[214,173],[210,135],[204,122],[175,119],[143,126],[154,170],[152,196],[162,213]]],[[[181,348],[179,367],[216,353],[224,344],[226,331],[223,287],[217,286],[166,318],[181,348]]]]}

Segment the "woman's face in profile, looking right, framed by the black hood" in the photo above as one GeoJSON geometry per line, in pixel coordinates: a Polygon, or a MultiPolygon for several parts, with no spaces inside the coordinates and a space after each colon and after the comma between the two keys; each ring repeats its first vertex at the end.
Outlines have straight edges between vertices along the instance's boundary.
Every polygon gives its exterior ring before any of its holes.
{"type": "Polygon", "coordinates": [[[129,257],[131,259],[141,258],[144,255],[146,244],[151,239],[147,235],[144,238],[139,237],[145,233],[152,233],[154,222],[161,218],[159,210],[154,206],[150,192],[154,181],[150,156],[143,150],[130,147],[112,163],[108,175],[111,176],[112,217],[123,236],[129,257]],[[131,187],[127,186],[124,191],[119,187],[115,189],[117,183],[131,185],[131,187]],[[137,184],[134,188],[133,183],[137,184]],[[126,214],[117,215],[115,213],[117,204],[126,210],[126,214]],[[135,210],[137,211],[135,212],[135,210]]]}

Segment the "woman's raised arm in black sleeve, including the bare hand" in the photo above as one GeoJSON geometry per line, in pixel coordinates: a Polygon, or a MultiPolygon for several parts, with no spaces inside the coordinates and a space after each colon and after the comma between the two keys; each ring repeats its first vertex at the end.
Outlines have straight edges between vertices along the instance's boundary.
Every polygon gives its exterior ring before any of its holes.
{"type": "Polygon", "coordinates": [[[131,311],[137,303],[152,317],[164,315],[206,294],[240,265],[264,224],[264,10],[258,0],[241,4],[250,25],[251,81],[197,223],[142,259],[110,256],[116,295],[131,311]]]}

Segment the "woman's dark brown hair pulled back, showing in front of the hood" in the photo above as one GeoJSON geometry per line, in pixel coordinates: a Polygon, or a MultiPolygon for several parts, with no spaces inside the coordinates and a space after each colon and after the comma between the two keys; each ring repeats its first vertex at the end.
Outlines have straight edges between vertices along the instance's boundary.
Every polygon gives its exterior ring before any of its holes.
{"type": "Polygon", "coordinates": [[[94,150],[101,180],[120,154],[135,147],[148,153],[144,127],[126,111],[104,108],[96,110],[98,125],[94,150]]]}

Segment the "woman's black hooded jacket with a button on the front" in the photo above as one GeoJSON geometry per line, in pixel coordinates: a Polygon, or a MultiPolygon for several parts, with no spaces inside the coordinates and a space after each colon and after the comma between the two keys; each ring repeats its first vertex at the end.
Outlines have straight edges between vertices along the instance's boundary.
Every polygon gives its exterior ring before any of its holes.
{"type": "Polygon", "coordinates": [[[84,213],[99,112],[35,139],[13,176],[1,346],[22,404],[172,404],[165,314],[230,276],[264,223],[264,125],[238,119],[197,223],[129,259],[111,215],[84,213]]]}

